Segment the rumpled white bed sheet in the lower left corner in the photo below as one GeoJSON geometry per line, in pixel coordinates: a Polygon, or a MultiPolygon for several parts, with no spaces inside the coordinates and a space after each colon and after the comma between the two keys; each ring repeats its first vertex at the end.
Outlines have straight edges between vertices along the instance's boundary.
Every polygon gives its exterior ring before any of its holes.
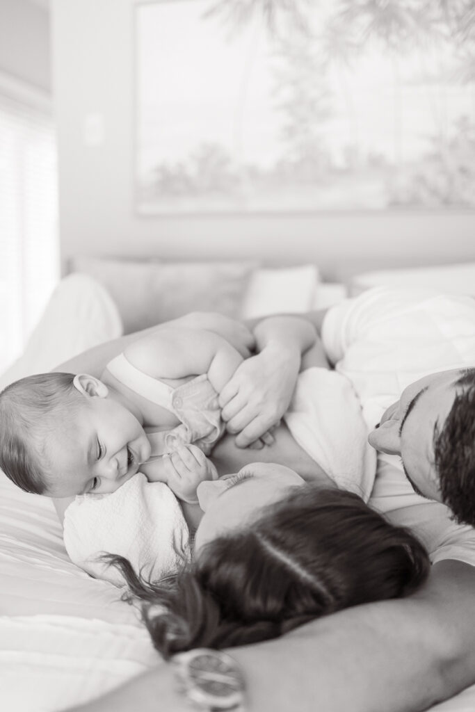
{"type": "Polygon", "coordinates": [[[0,708],[61,710],[160,664],[118,589],[68,560],[51,501],[0,473],[0,708]]]}

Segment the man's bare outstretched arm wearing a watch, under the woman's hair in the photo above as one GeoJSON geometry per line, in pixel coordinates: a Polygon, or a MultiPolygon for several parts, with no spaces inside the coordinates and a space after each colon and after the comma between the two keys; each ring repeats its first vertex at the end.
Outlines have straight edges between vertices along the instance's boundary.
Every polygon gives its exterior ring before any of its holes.
{"type": "MultiPolygon", "coordinates": [[[[358,606],[285,637],[229,652],[244,669],[249,712],[418,712],[475,681],[475,569],[433,567],[407,599],[358,606]],[[276,684],[276,680],[278,683],[276,684]]],[[[139,676],[83,712],[189,709],[169,666],[139,676]]]]}

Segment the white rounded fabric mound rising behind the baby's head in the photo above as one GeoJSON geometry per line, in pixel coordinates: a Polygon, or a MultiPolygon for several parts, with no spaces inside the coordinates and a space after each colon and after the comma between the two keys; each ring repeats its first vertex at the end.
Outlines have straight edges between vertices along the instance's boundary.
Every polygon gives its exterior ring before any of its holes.
{"type": "Polygon", "coordinates": [[[108,291],[92,277],[71,274],[51,295],[23,355],[0,376],[0,388],[24,376],[51,371],[121,334],[122,321],[108,291]]]}

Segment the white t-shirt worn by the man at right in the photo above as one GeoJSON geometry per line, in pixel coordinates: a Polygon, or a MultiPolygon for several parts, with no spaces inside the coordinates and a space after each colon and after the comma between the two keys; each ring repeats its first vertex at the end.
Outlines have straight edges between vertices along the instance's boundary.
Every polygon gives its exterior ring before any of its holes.
{"type": "MultiPolygon", "coordinates": [[[[437,371],[475,366],[475,300],[427,289],[376,288],[331,308],[322,329],[335,368],[348,377],[372,429],[410,383],[437,371]]],[[[432,562],[475,565],[475,530],[447,507],[412,490],[400,459],[379,454],[370,505],[409,526],[432,562]]]]}

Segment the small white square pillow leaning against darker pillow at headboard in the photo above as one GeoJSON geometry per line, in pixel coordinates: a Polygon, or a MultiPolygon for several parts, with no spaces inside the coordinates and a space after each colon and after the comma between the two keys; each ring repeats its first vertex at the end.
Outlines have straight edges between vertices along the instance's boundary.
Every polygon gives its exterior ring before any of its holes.
{"type": "Polygon", "coordinates": [[[241,318],[306,312],[313,307],[318,280],[318,269],[310,264],[258,269],[244,295],[241,318]]]}

